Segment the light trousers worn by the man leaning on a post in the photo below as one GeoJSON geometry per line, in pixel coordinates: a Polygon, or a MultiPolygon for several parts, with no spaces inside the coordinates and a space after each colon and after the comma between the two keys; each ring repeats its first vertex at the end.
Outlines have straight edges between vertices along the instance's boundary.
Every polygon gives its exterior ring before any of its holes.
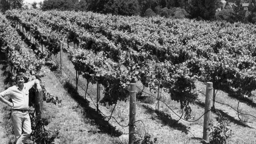
{"type": "Polygon", "coordinates": [[[30,116],[28,112],[12,111],[14,135],[16,144],[24,144],[32,133],[30,116]],[[23,133],[22,133],[23,130],[23,133]]]}

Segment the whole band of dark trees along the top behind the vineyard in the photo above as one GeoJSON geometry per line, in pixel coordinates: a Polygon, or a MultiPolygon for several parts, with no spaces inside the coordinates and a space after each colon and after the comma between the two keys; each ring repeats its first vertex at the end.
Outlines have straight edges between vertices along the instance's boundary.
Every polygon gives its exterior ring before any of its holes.
{"type": "MultiPolygon", "coordinates": [[[[0,9],[22,7],[23,0],[1,0],[0,9]]],[[[36,3],[32,3],[33,8],[36,3]]],[[[96,13],[113,15],[139,15],[154,17],[160,15],[167,18],[197,18],[204,20],[226,20],[228,22],[256,23],[255,0],[227,0],[225,6],[221,0],[44,0],[39,3],[40,9],[46,10],[74,10],[93,11],[96,13]],[[233,2],[237,7],[230,7],[233,2]],[[243,9],[242,3],[249,3],[248,11],[243,9]],[[224,7],[221,11],[216,11],[224,7]]]]}

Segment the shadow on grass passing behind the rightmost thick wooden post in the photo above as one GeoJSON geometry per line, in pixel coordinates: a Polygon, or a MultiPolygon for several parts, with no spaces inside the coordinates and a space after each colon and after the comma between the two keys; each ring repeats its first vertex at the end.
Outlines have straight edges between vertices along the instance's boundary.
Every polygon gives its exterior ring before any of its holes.
{"type": "MultiPolygon", "coordinates": [[[[204,105],[205,105],[203,102],[195,102],[195,103],[197,105],[199,105],[199,106],[202,106],[202,107],[204,107],[204,105]]],[[[241,122],[239,120],[236,120],[233,116],[228,115],[227,113],[225,113],[221,109],[216,109],[216,111],[219,111],[219,113],[221,113],[222,116],[224,116],[225,118],[228,118],[228,120],[230,120],[230,122],[234,122],[235,124],[243,126],[243,127],[253,128],[253,127],[250,127],[247,124],[245,124],[245,123],[243,123],[243,122],[241,122]]],[[[216,111],[215,110],[211,110],[211,112],[215,113],[215,114],[216,114],[216,111]]]]}

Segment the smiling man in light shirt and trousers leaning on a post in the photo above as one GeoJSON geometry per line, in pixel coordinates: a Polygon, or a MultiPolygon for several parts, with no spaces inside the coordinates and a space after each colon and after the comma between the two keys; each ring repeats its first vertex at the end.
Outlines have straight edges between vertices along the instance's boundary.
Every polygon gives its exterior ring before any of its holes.
{"type": "Polygon", "coordinates": [[[24,144],[32,133],[30,116],[28,114],[28,90],[33,85],[36,85],[37,91],[43,91],[38,79],[24,83],[24,78],[24,74],[17,74],[17,84],[0,93],[0,101],[12,107],[11,119],[13,121],[16,144],[24,144]],[[5,96],[10,96],[12,102],[3,98],[5,96]]]}

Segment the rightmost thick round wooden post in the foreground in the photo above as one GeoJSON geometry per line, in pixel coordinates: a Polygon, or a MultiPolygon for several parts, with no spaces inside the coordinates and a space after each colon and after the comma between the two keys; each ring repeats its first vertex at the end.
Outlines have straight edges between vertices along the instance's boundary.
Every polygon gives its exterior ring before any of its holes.
{"type": "Polygon", "coordinates": [[[209,143],[209,134],[211,129],[211,105],[213,94],[213,83],[206,83],[206,97],[205,97],[205,108],[204,108],[204,131],[203,131],[203,142],[209,143]],[[206,113],[207,112],[207,113],[206,113]]]}

